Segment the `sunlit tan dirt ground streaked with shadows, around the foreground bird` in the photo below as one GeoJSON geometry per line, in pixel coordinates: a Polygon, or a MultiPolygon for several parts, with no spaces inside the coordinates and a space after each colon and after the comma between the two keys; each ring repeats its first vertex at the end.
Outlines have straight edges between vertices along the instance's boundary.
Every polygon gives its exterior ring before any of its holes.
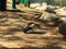
{"type": "Polygon", "coordinates": [[[54,33],[54,27],[44,26],[33,20],[41,11],[19,7],[21,11],[0,12],[0,49],[66,49],[66,38],[54,33]],[[29,22],[41,25],[28,34],[22,27],[29,22]]]}

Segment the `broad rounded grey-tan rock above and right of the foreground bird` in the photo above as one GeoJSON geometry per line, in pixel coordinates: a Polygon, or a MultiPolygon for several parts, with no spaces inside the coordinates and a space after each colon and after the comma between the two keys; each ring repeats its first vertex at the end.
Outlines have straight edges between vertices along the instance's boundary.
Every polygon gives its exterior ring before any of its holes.
{"type": "Polygon", "coordinates": [[[43,15],[40,19],[44,21],[58,21],[59,20],[59,17],[57,17],[55,14],[50,14],[50,13],[43,13],[43,15]]]}

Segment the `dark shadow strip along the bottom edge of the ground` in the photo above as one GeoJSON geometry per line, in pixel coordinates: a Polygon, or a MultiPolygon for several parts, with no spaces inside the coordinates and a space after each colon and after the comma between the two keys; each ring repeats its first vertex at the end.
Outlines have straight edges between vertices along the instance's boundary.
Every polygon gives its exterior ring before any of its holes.
{"type": "Polygon", "coordinates": [[[24,47],[24,48],[6,48],[0,47],[0,49],[62,49],[61,47],[43,47],[43,48],[36,48],[36,47],[24,47]]]}

